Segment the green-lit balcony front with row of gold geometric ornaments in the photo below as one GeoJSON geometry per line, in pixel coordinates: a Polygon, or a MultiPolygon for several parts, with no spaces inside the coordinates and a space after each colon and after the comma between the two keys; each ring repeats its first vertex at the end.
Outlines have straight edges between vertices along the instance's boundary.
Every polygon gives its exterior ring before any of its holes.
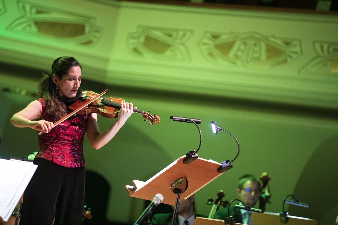
{"type": "Polygon", "coordinates": [[[332,15],[114,0],[0,3],[1,62],[48,71],[72,55],[84,76],[105,84],[338,107],[332,15]]]}

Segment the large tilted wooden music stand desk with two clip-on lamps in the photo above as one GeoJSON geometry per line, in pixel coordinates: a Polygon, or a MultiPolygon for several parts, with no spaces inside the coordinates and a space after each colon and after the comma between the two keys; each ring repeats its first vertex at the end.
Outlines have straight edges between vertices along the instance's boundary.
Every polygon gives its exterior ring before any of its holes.
{"type": "Polygon", "coordinates": [[[198,158],[189,164],[184,164],[185,157],[184,155],[178,158],[146,182],[133,180],[134,186],[125,186],[128,195],[151,201],[157,193],[161,193],[164,197],[163,203],[176,205],[177,208],[180,196],[187,199],[224,173],[217,172],[217,169],[222,166],[218,162],[198,158]],[[179,178],[185,178],[188,184],[187,189],[176,196],[170,185],[179,178]]]}

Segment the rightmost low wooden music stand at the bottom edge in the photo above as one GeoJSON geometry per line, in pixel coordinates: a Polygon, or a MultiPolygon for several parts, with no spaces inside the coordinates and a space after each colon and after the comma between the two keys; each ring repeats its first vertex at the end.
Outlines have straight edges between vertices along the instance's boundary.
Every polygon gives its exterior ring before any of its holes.
{"type": "Polygon", "coordinates": [[[316,220],[295,217],[288,215],[288,222],[282,223],[279,217],[279,213],[252,213],[251,214],[252,225],[319,225],[316,220]]]}

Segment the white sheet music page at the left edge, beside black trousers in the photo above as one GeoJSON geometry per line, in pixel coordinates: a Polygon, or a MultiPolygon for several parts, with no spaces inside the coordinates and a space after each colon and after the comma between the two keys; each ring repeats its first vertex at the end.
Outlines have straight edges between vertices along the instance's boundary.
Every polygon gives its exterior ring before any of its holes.
{"type": "Polygon", "coordinates": [[[0,216],[7,221],[38,165],[0,159],[0,216]]]}

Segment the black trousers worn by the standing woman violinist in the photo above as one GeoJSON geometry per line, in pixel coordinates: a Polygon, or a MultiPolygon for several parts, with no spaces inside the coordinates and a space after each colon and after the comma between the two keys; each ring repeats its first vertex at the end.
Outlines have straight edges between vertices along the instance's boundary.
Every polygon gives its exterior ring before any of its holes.
{"type": "Polygon", "coordinates": [[[35,158],[38,165],[23,196],[20,225],[81,225],[84,167],[67,168],[35,158]]]}

